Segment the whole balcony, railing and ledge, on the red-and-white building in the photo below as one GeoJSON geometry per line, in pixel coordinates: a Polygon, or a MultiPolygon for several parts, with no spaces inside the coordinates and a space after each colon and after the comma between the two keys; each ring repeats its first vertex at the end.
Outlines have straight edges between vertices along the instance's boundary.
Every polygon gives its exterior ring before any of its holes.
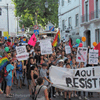
{"type": "Polygon", "coordinates": [[[100,20],[100,10],[93,11],[90,14],[85,14],[81,16],[81,25],[82,24],[89,24],[91,22],[99,21],[100,20]]]}

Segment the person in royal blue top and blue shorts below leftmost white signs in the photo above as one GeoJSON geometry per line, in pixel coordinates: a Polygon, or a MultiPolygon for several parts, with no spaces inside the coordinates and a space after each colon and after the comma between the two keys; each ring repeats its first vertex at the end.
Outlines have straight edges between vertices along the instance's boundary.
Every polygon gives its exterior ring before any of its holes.
{"type": "Polygon", "coordinates": [[[22,89],[23,64],[22,64],[21,61],[17,61],[16,71],[15,71],[15,77],[17,78],[17,89],[18,89],[18,83],[19,83],[19,81],[20,81],[20,89],[22,89]]]}

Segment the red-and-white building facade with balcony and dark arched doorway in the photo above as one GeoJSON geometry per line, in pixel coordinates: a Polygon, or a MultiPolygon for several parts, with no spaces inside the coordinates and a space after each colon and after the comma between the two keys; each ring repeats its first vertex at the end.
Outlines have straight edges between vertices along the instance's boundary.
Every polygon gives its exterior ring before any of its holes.
{"type": "Polygon", "coordinates": [[[93,47],[93,42],[100,42],[100,0],[80,0],[80,3],[80,35],[87,39],[84,46],[93,47]]]}

